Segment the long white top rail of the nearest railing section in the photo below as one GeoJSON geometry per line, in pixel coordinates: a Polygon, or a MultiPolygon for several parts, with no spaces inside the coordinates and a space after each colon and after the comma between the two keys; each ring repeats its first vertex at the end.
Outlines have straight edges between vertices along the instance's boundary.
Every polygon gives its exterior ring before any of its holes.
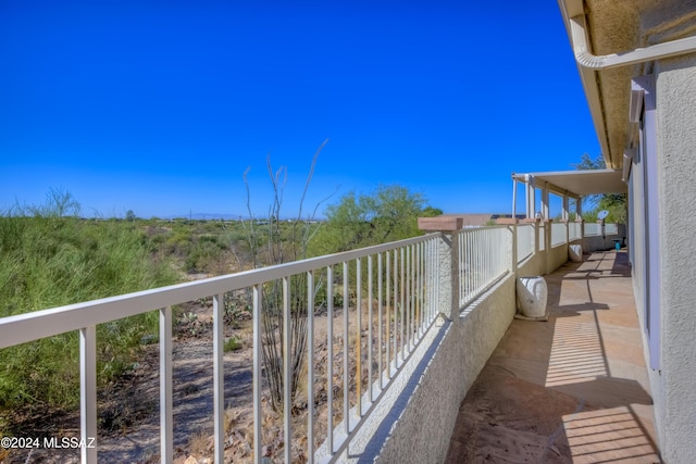
{"type": "Polygon", "coordinates": [[[0,349],[212,294],[248,288],[265,281],[332,266],[344,261],[420,243],[440,236],[440,233],[428,234],[341,253],[2,317],[0,318],[0,349]]]}

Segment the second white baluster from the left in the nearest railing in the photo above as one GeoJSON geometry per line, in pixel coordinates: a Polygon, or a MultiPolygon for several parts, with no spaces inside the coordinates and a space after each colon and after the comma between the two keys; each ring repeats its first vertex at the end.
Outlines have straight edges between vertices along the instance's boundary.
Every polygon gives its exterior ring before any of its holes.
{"type": "Polygon", "coordinates": [[[160,462],[174,461],[172,306],[160,310],[160,462]]]}

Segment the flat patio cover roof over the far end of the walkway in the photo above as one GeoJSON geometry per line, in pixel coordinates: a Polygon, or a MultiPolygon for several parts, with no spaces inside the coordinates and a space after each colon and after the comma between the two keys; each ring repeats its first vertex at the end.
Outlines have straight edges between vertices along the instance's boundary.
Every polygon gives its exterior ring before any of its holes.
{"type": "Polygon", "coordinates": [[[622,172],[614,170],[557,171],[551,173],[512,174],[521,183],[548,189],[557,195],[586,197],[598,193],[625,193],[626,184],[621,180],[622,172]]]}

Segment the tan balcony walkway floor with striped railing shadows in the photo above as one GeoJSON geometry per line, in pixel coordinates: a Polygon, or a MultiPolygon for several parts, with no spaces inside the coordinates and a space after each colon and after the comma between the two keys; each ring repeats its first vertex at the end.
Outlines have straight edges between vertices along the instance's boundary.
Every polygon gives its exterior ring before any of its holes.
{"type": "Polygon", "coordinates": [[[624,251],[545,276],[548,322],[514,319],[459,409],[447,463],[659,463],[624,251]]]}

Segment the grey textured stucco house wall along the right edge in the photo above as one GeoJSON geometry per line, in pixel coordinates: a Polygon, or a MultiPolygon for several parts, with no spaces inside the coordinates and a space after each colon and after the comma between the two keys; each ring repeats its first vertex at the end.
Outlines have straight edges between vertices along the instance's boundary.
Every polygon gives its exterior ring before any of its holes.
{"type": "Polygon", "coordinates": [[[666,462],[696,455],[696,55],[656,63],[661,373],[656,414],[666,462]]]}

